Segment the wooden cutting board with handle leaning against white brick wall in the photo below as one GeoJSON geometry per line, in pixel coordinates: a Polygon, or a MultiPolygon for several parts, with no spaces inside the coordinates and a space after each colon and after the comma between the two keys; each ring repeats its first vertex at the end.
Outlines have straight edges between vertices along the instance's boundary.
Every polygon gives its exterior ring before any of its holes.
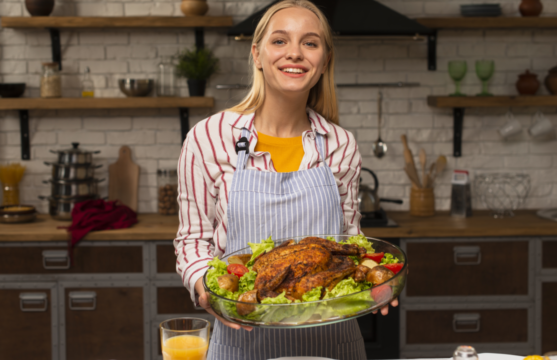
{"type": "Polygon", "coordinates": [[[108,199],[120,200],[131,210],[138,211],[139,166],[131,160],[129,147],[120,148],[120,157],[110,164],[108,173],[108,199]]]}

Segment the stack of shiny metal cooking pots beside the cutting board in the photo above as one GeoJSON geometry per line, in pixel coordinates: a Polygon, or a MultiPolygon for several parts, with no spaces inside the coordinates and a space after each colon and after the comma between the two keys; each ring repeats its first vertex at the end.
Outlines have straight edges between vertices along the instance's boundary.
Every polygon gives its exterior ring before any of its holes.
{"type": "Polygon", "coordinates": [[[48,200],[48,212],[58,220],[71,220],[74,205],[81,201],[99,198],[97,184],[104,179],[96,179],[95,169],[102,165],[92,163],[93,154],[100,151],[86,151],[79,148],[79,143],[72,143],[72,148],[50,150],[58,155],[58,162],[45,162],[52,166],[52,178],[43,181],[51,184],[51,196],[40,196],[48,200]]]}

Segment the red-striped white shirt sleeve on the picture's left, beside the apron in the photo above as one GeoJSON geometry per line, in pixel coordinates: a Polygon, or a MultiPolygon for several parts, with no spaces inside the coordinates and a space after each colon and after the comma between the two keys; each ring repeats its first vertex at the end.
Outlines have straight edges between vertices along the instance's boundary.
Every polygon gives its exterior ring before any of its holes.
{"type": "Polygon", "coordinates": [[[207,193],[207,182],[201,164],[201,155],[196,151],[196,142],[188,133],[178,160],[178,203],[180,225],[174,248],[176,271],[182,283],[197,303],[194,285],[213,260],[213,220],[216,202],[207,193]]]}

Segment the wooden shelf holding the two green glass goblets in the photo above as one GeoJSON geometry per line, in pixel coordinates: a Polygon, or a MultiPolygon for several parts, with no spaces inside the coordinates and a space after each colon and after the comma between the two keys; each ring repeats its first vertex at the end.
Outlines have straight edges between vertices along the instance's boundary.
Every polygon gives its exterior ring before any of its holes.
{"type": "Polygon", "coordinates": [[[557,95],[532,96],[428,96],[427,104],[435,108],[516,108],[557,106],[557,95]]]}

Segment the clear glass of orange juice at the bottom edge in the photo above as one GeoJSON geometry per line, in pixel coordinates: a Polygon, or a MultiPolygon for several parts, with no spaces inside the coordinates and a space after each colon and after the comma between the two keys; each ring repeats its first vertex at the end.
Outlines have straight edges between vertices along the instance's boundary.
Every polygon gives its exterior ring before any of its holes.
{"type": "Polygon", "coordinates": [[[207,320],[178,318],[159,326],[164,360],[206,360],[211,329],[207,320]]]}

